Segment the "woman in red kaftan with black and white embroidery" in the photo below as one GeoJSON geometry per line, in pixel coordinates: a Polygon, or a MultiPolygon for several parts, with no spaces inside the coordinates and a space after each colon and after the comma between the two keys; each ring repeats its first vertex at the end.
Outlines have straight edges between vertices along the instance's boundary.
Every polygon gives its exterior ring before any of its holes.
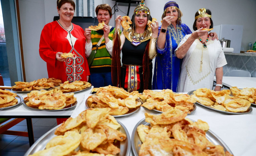
{"type": "MultiPolygon", "coordinates": [[[[65,81],[88,81],[89,67],[85,56],[84,30],[73,23],[75,3],[72,0],[57,0],[60,19],[44,26],[39,54],[47,64],[48,76],[65,81]],[[73,57],[62,58],[61,54],[72,53],[73,57]]],[[[66,119],[57,119],[57,124],[66,119]]]]}

